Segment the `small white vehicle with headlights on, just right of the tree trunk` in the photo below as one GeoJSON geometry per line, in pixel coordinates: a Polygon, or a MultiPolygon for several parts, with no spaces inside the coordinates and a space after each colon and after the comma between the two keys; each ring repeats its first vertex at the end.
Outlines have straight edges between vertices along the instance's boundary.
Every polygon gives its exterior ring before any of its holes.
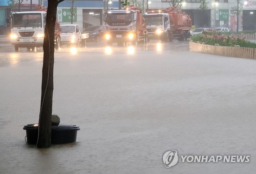
{"type": "Polygon", "coordinates": [[[79,46],[81,41],[81,31],[77,24],[66,24],[60,25],[61,28],[61,46],[63,45],[74,45],[79,46]]]}

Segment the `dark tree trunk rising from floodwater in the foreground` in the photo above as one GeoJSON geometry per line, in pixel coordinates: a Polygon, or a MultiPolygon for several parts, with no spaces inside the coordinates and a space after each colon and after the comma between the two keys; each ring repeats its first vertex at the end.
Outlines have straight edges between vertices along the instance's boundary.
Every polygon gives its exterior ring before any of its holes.
{"type": "Polygon", "coordinates": [[[38,148],[51,146],[51,116],[53,98],[53,65],[54,65],[54,27],[58,0],[48,1],[45,39],[44,62],[42,65],[41,105],[38,129],[38,148]]]}

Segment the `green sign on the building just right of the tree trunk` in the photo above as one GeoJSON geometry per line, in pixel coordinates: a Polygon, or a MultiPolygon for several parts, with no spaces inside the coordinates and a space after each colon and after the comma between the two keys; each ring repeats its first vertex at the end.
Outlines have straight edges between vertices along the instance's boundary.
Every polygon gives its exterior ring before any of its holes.
{"type": "MultiPolygon", "coordinates": [[[[76,22],[76,8],[73,9],[73,22],[76,22]]],[[[57,9],[58,21],[71,22],[71,9],[57,9]]]]}

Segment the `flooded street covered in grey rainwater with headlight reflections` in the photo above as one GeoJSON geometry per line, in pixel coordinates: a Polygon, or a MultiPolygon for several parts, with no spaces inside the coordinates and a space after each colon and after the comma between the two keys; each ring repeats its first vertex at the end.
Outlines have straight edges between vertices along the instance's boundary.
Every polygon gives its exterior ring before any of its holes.
{"type": "Polygon", "coordinates": [[[39,149],[43,52],[0,50],[1,173],[254,173],[256,61],[188,51],[188,41],[89,44],[55,53],[53,113],[77,141],[39,149]],[[177,150],[166,168],[163,155],[177,150]],[[180,156],[250,156],[182,162],[180,156]]]}

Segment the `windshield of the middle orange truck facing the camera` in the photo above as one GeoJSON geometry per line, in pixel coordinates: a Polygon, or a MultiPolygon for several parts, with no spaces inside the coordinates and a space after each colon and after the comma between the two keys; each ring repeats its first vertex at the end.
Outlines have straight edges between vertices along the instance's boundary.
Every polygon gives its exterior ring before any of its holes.
{"type": "Polygon", "coordinates": [[[132,21],[132,13],[108,13],[106,16],[106,23],[111,26],[127,26],[132,21]]]}

